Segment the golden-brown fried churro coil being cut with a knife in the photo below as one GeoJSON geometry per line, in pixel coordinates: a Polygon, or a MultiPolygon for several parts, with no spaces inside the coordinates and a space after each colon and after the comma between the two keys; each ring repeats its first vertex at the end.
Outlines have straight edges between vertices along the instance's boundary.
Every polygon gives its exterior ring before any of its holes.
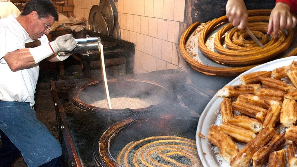
{"type": "Polygon", "coordinates": [[[294,38],[293,29],[279,30],[277,38],[266,34],[271,10],[249,10],[248,13],[247,26],[265,48],[258,46],[244,30],[234,28],[228,23],[228,18],[222,16],[209,23],[200,33],[198,46],[203,55],[221,64],[247,66],[268,61],[290,48],[294,38]],[[219,29],[214,39],[217,52],[211,51],[205,44],[215,29],[219,29]]]}

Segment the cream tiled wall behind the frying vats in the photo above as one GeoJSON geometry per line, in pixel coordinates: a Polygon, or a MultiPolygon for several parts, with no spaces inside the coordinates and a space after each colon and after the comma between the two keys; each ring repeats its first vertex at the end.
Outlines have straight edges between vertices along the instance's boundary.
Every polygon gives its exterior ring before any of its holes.
{"type": "MultiPolygon", "coordinates": [[[[89,17],[99,0],[74,0],[75,17],[89,17]]],[[[185,0],[111,1],[123,40],[135,43],[134,73],[178,68],[179,24],[185,0]]]]}

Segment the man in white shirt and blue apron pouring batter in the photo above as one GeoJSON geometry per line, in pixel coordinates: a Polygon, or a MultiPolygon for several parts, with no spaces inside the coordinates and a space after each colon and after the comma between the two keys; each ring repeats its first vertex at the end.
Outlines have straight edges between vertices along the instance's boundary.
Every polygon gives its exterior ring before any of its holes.
{"type": "Polygon", "coordinates": [[[57,53],[76,47],[71,34],[48,41],[46,34],[57,20],[50,0],[29,0],[18,17],[0,19],[0,129],[4,133],[0,166],[10,166],[5,153],[14,148],[20,150],[28,167],[61,166],[61,144],[37,119],[33,109],[39,62],[63,61],[68,56],[57,53]],[[40,40],[41,45],[25,48],[25,43],[34,40],[40,40]]]}

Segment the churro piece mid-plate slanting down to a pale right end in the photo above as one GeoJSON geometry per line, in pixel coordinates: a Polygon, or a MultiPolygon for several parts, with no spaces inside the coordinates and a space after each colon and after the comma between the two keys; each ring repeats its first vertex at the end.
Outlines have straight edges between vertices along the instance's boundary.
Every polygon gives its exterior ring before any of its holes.
{"type": "Polygon", "coordinates": [[[239,111],[242,114],[256,118],[258,121],[263,122],[268,112],[266,109],[252,105],[249,103],[235,101],[232,103],[233,110],[239,111]]]}

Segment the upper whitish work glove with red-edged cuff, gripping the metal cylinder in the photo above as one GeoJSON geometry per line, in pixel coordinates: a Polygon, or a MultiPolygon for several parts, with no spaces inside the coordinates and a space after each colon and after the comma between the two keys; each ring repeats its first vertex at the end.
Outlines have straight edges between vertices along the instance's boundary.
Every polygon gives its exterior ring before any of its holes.
{"type": "Polygon", "coordinates": [[[50,42],[54,52],[58,51],[72,51],[76,47],[76,41],[72,34],[61,35],[50,42]]]}

